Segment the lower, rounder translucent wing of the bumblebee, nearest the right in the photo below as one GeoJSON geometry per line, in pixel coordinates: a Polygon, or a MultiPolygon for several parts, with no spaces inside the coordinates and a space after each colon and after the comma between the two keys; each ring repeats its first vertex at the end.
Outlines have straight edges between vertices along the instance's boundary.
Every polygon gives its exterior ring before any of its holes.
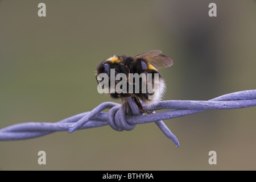
{"type": "Polygon", "coordinates": [[[171,57],[164,55],[148,57],[148,59],[150,60],[150,64],[156,69],[168,68],[171,67],[171,65],[173,64],[171,57]]]}

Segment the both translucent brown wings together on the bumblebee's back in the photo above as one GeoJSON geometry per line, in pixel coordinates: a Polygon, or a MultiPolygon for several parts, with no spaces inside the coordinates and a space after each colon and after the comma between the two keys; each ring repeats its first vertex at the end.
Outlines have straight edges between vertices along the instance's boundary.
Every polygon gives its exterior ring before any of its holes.
{"type": "Polygon", "coordinates": [[[147,57],[147,59],[150,61],[150,64],[156,69],[171,67],[173,64],[171,57],[160,55],[160,53],[162,53],[162,51],[152,50],[143,52],[140,55],[134,56],[134,58],[138,59],[140,57],[147,57]]]}

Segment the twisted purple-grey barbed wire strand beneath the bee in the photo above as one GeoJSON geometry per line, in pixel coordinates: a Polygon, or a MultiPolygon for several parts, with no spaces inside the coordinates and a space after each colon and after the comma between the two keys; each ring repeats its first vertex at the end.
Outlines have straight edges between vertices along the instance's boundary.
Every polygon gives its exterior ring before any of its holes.
{"type": "Polygon", "coordinates": [[[155,122],[167,138],[171,139],[177,147],[179,141],[163,120],[183,117],[185,115],[199,113],[209,109],[240,109],[244,107],[256,106],[256,90],[244,90],[225,94],[213,98],[209,101],[184,101],[170,100],[160,101],[157,106],[151,110],[162,110],[154,114],[141,113],[131,98],[127,99],[131,106],[132,116],[127,117],[121,104],[114,102],[103,102],[92,111],[73,115],[59,122],[26,122],[7,126],[0,130],[0,140],[20,140],[40,137],[51,134],[55,131],[68,131],[72,133],[76,130],[89,129],[110,125],[117,131],[132,130],[137,124],[155,122]],[[110,109],[107,112],[102,110],[110,109]],[[175,110],[173,110],[175,109],[175,110]]]}

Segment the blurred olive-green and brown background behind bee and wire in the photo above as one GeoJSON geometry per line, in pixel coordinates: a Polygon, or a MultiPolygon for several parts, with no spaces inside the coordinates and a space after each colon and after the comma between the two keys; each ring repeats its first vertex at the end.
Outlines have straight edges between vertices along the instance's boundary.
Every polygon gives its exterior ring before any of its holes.
{"type": "MultiPolygon", "coordinates": [[[[0,1],[0,128],[57,122],[113,101],[97,92],[96,65],[160,49],[165,100],[209,100],[255,89],[255,1],[0,1]],[[38,3],[46,3],[46,17],[38,3]],[[217,17],[208,16],[210,2],[217,17]]],[[[120,101],[118,101],[120,102],[120,101]]],[[[209,110],[155,123],[1,141],[2,170],[255,170],[255,107],[209,110]],[[46,165],[38,151],[46,151],[46,165]],[[217,165],[209,165],[209,151],[217,165]]]]}

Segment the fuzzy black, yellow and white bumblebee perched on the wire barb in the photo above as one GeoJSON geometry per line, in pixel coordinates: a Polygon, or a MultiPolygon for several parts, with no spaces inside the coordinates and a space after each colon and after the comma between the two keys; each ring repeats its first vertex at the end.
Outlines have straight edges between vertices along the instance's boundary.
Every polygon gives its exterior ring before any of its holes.
{"type": "MultiPolygon", "coordinates": [[[[159,68],[168,68],[171,67],[173,64],[173,61],[170,57],[161,55],[162,51],[160,50],[152,50],[148,52],[141,53],[137,56],[131,57],[126,55],[120,55],[120,56],[113,56],[109,59],[106,59],[102,61],[100,64],[98,64],[96,69],[96,80],[97,84],[98,82],[98,75],[101,73],[105,73],[108,77],[110,77],[110,70],[114,69],[114,76],[118,75],[118,73],[124,73],[127,77],[126,84],[127,88],[129,88],[130,85],[133,85],[133,92],[128,92],[129,90],[125,90],[127,92],[117,92],[116,90],[112,93],[109,92],[110,97],[117,99],[121,98],[123,108],[126,110],[126,113],[128,115],[131,114],[131,108],[127,102],[127,97],[131,97],[135,104],[138,106],[139,110],[143,112],[150,112],[147,111],[150,109],[150,107],[156,105],[158,101],[162,100],[163,94],[166,89],[166,84],[164,83],[163,77],[158,72],[159,68]],[[140,78],[139,84],[134,84],[133,80],[130,80],[130,75],[138,73],[145,74],[146,79],[140,78]],[[149,74],[151,73],[151,74],[149,74]],[[155,76],[157,74],[158,77],[155,76]],[[148,76],[152,75],[151,83],[148,83],[148,76]],[[158,78],[158,79],[156,79],[158,78]],[[158,89],[154,90],[154,93],[150,93],[149,90],[146,88],[143,88],[143,83],[147,86],[151,84],[153,88],[158,86],[158,89]],[[138,86],[139,92],[135,92],[135,88],[138,86]],[[150,96],[152,94],[156,95],[156,98],[150,100],[150,96]],[[147,107],[147,110],[143,109],[143,106],[141,104],[141,101],[143,104],[147,107]]],[[[103,81],[102,79],[101,81],[103,81]]],[[[100,81],[100,82],[101,82],[100,81]]],[[[118,80],[115,80],[114,84],[118,84],[118,80]]],[[[110,85],[110,81],[109,81],[110,85]]]]}

